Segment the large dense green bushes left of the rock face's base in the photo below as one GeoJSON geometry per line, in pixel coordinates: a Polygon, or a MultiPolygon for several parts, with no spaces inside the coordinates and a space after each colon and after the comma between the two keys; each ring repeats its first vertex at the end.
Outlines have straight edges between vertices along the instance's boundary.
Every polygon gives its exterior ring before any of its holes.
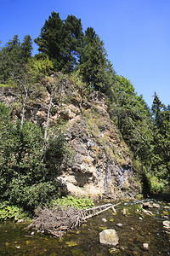
{"type": "Polygon", "coordinates": [[[55,181],[66,150],[62,134],[58,134],[54,143],[50,140],[47,151],[51,150],[53,155],[43,161],[40,127],[31,121],[26,121],[22,127],[20,121],[11,122],[9,109],[1,104],[0,128],[1,201],[33,211],[38,205],[47,204],[62,193],[65,195],[65,188],[55,181]]]}

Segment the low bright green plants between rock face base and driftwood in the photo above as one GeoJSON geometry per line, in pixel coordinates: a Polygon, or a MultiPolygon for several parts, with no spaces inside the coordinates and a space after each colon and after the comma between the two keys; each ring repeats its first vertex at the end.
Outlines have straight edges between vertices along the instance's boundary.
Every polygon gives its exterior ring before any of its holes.
{"type": "Polygon", "coordinates": [[[62,207],[74,207],[77,209],[87,209],[89,207],[94,207],[94,201],[90,198],[68,196],[53,201],[53,205],[59,205],[62,207]]]}

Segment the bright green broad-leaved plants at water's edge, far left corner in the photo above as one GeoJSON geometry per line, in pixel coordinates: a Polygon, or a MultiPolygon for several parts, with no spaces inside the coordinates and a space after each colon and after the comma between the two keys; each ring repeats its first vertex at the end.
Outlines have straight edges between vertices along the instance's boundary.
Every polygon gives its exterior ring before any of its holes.
{"type": "Polygon", "coordinates": [[[14,219],[28,219],[26,212],[22,208],[9,205],[8,201],[0,203],[0,220],[14,219]]]}

